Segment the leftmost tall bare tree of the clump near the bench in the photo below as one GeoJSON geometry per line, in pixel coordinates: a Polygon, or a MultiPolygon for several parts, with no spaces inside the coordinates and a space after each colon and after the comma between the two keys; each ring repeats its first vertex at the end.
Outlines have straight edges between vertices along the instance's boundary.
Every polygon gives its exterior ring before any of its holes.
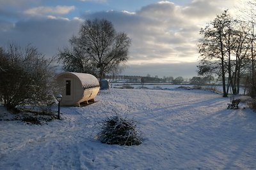
{"type": "MultiPolygon", "coordinates": [[[[224,11],[221,15],[217,15],[209,25],[201,29],[200,34],[202,34],[203,38],[200,39],[198,44],[199,53],[202,57],[201,64],[204,64],[199,66],[199,68],[205,69],[205,71],[212,71],[212,68],[216,69],[220,64],[220,69],[216,70],[216,73],[220,75],[222,79],[223,97],[227,97],[228,95],[225,82],[225,53],[228,52],[229,49],[227,50],[227,48],[229,48],[229,45],[227,43],[225,44],[225,41],[228,36],[230,36],[231,23],[232,19],[227,11],[224,11]],[[209,63],[211,63],[212,67],[205,66],[205,64],[209,63]]],[[[202,70],[199,72],[202,72],[202,70]]],[[[204,72],[202,72],[202,74],[203,73],[204,72]]]]}

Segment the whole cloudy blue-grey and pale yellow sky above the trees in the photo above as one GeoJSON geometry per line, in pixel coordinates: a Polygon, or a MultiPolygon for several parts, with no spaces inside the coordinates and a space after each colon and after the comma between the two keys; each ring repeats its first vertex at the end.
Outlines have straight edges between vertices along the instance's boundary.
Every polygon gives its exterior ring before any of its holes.
{"type": "Polygon", "coordinates": [[[199,31],[243,0],[0,0],[0,46],[36,46],[55,56],[84,20],[106,19],[132,43],[125,70],[134,76],[196,76],[199,31]]]}

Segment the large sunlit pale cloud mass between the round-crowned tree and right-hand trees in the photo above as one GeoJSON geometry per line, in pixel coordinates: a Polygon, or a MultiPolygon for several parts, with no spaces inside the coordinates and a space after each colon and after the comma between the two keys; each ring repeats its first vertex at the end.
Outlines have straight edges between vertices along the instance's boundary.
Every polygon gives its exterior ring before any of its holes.
{"type": "Polygon", "coordinates": [[[132,39],[126,74],[195,76],[200,28],[233,5],[231,0],[194,0],[186,6],[160,1],[136,12],[86,13],[84,19],[110,20],[132,39]]]}

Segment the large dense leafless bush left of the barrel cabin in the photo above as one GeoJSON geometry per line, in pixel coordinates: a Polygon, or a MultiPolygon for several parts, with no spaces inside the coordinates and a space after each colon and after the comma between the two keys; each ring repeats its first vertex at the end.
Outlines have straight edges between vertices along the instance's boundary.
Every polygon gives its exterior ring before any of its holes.
{"type": "Polygon", "coordinates": [[[56,90],[51,62],[35,47],[0,48],[0,104],[15,110],[16,106],[51,103],[56,90]]]}

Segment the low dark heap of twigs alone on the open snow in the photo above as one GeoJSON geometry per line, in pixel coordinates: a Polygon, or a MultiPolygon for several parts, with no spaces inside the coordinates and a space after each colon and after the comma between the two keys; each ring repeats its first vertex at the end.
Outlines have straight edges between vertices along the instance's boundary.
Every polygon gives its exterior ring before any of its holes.
{"type": "Polygon", "coordinates": [[[122,118],[120,115],[104,120],[98,139],[109,145],[140,145],[140,132],[136,131],[134,120],[122,118]]]}

